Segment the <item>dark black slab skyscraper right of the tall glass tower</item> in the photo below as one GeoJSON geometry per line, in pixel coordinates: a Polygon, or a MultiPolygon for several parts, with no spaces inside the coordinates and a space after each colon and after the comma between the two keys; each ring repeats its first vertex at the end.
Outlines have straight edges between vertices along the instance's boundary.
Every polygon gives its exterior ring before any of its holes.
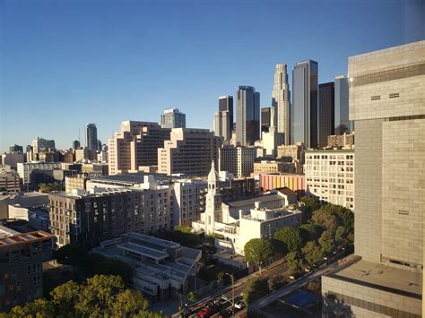
{"type": "Polygon", "coordinates": [[[327,137],[334,134],[335,94],[334,82],[319,84],[319,147],[327,145],[327,137]]]}

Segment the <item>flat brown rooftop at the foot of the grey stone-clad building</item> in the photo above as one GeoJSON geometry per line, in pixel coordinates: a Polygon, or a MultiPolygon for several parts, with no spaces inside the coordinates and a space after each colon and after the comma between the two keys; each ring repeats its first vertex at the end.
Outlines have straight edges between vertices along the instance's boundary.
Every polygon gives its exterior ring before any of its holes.
{"type": "Polygon", "coordinates": [[[377,262],[360,260],[342,271],[326,276],[406,297],[422,297],[420,272],[401,270],[377,262]]]}

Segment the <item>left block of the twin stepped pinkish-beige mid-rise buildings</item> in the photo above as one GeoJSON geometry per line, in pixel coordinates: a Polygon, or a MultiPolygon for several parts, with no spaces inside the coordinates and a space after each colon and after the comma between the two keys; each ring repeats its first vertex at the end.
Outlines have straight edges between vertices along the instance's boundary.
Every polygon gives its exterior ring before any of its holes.
{"type": "Polygon", "coordinates": [[[109,175],[157,166],[158,148],[169,140],[170,131],[158,123],[122,122],[121,130],[108,140],[109,175]]]}

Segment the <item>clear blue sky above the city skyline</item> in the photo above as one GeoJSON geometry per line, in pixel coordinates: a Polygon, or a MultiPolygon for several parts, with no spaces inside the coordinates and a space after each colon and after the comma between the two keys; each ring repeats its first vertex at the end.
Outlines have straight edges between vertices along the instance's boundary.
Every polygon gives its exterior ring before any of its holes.
{"type": "Polygon", "coordinates": [[[0,150],[35,137],[102,142],[123,120],[212,127],[218,97],[255,86],[271,104],[274,64],[314,59],[319,82],[348,56],[425,39],[424,0],[0,0],[0,150]]]}

